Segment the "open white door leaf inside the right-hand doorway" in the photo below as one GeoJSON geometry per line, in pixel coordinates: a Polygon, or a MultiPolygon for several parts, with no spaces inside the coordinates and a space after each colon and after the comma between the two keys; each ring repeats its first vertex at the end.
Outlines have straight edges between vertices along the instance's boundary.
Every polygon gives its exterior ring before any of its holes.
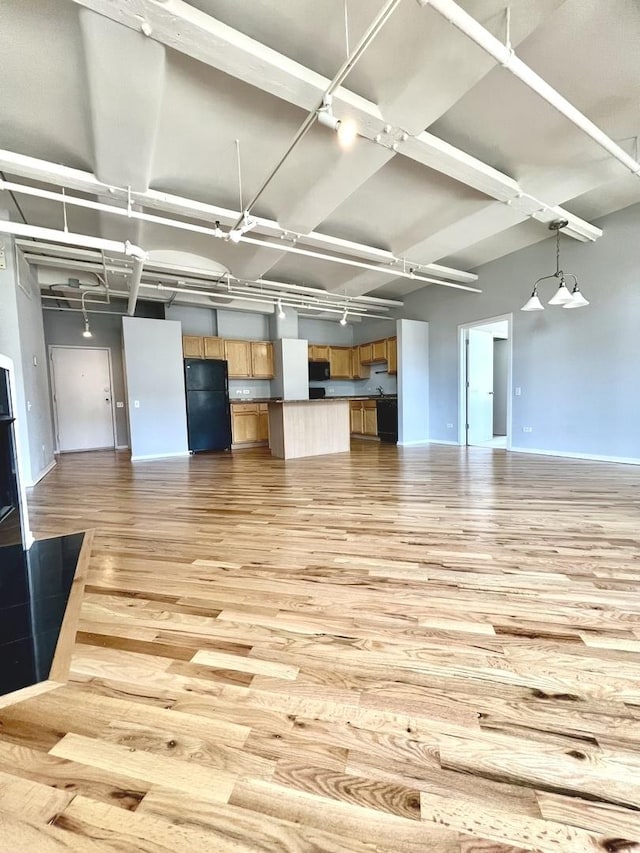
{"type": "Polygon", "coordinates": [[[469,329],[467,423],[467,444],[493,438],[493,335],[480,329],[469,329]]]}

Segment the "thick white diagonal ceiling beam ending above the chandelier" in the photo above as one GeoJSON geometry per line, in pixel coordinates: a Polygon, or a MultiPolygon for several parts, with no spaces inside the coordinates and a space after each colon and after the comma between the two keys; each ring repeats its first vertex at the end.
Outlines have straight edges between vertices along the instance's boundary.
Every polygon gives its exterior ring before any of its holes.
{"type": "MultiPolygon", "coordinates": [[[[330,82],[323,75],[234,30],[183,0],[165,0],[162,3],[137,0],[135,4],[128,0],[73,2],[138,32],[144,32],[174,50],[304,110],[312,110],[317,106],[330,82]]],[[[333,110],[338,118],[354,118],[360,135],[370,140],[375,140],[385,126],[385,118],[376,104],[342,86],[334,94],[333,110]]],[[[406,141],[397,144],[400,155],[424,163],[498,201],[510,204],[524,216],[540,219],[539,215],[534,214],[554,208],[544,200],[527,196],[508,175],[447,145],[432,134],[409,136],[406,141]]],[[[554,208],[550,218],[572,219],[574,227],[566,233],[576,239],[595,240],[602,233],[560,208],[554,208]]]]}

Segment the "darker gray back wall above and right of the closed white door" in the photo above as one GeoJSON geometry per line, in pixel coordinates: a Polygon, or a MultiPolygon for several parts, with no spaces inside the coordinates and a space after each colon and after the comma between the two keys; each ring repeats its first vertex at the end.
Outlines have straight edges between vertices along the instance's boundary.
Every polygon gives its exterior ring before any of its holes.
{"type": "MultiPolygon", "coordinates": [[[[96,307],[96,305],[91,306],[92,312],[96,307]]],[[[85,339],[82,337],[84,325],[80,312],[54,311],[47,307],[42,313],[44,315],[44,335],[47,346],[105,347],[109,350],[114,404],[124,403],[124,408],[120,409],[117,406],[115,408],[116,445],[128,447],[127,397],[122,364],[122,317],[105,313],[89,314],[93,337],[85,339]]]]}

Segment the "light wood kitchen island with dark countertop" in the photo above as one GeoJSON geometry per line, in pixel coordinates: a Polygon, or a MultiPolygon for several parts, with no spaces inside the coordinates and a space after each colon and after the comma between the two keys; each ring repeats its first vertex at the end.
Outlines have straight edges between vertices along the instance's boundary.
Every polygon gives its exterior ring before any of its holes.
{"type": "Polygon", "coordinates": [[[350,431],[347,399],[269,403],[269,447],[280,459],[347,453],[350,431]]]}

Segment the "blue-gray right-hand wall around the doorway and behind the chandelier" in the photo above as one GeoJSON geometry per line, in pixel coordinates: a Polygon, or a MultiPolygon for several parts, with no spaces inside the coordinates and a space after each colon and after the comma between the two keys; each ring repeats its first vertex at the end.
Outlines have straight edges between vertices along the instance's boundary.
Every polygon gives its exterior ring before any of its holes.
{"type": "MultiPolygon", "coordinates": [[[[428,287],[406,297],[405,313],[430,323],[433,439],[450,439],[446,424],[458,423],[458,325],[513,312],[513,447],[640,459],[640,205],[596,224],[595,243],[561,238],[562,266],[587,308],[519,310],[533,281],[553,272],[551,238],[478,268],[481,294],[428,287]]],[[[543,282],[543,304],[553,290],[543,282]]]]}

